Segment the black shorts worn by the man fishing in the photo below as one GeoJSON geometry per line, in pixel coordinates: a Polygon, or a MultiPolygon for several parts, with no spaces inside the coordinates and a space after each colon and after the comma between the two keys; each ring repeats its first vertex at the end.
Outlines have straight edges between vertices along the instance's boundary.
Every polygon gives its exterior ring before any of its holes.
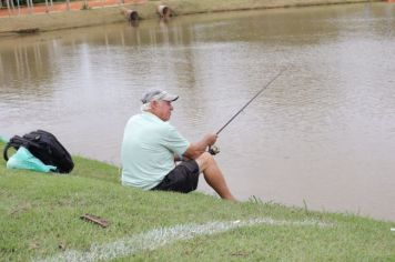
{"type": "Polygon", "coordinates": [[[178,164],[152,190],[175,191],[188,193],[198,188],[199,165],[196,161],[189,160],[178,164]]]}

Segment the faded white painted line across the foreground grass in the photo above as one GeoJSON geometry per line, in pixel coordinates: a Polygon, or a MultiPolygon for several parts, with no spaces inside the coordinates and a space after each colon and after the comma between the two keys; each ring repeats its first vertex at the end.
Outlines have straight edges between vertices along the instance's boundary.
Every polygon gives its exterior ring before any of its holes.
{"type": "Polygon", "coordinates": [[[236,221],[216,221],[205,224],[181,224],[172,228],[160,228],[148,231],[145,233],[134,234],[121,240],[104,243],[92,244],[89,251],[69,250],[59,253],[54,256],[40,259],[36,261],[107,261],[117,258],[131,255],[143,250],[154,250],[165,244],[179,241],[189,240],[199,235],[210,235],[215,233],[225,232],[232,229],[255,225],[255,224],[270,224],[270,225],[294,225],[294,226],[331,226],[331,224],[322,223],[314,220],[305,221],[285,221],[273,220],[269,218],[236,220],[236,221]]]}

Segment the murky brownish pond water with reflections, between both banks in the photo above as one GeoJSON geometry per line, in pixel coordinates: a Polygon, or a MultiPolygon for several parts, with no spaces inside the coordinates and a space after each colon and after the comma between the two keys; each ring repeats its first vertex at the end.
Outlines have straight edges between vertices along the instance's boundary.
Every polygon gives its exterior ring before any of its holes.
{"type": "MultiPolygon", "coordinates": [[[[143,90],[180,94],[172,123],[216,157],[235,195],[395,220],[395,7],[191,16],[0,41],[0,134],[53,132],[119,164],[143,90]]],[[[202,182],[200,190],[211,192],[202,182]]]]}

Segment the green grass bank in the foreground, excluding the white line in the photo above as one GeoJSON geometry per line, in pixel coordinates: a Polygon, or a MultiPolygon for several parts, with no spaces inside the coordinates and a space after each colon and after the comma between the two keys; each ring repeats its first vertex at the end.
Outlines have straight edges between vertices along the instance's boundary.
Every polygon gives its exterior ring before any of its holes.
{"type": "MultiPolygon", "coordinates": [[[[2,151],[3,143],[0,143],[2,151]]],[[[115,261],[395,261],[394,222],[202,193],[144,192],[120,185],[119,170],[74,157],[70,174],[7,170],[0,161],[0,260],[29,261],[158,228],[272,218],[317,220],[333,226],[260,224],[176,241],[115,261]],[[102,229],[79,219],[91,213],[102,229]]]]}

